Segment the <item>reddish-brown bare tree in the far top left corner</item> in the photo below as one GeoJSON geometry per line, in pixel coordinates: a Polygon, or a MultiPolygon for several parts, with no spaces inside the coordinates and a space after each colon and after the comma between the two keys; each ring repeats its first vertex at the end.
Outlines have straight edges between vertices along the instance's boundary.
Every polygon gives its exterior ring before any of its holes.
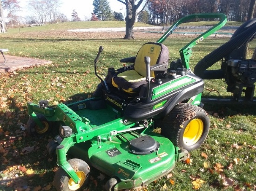
{"type": "Polygon", "coordinates": [[[17,0],[2,0],[3,8],[7,9],[8,14],[7,18],[10,19],[11,25],[13,26],[13,23],[17,23],[18,16],[15,15],[17,11],[20,11],[19,1],[17,0]]]}

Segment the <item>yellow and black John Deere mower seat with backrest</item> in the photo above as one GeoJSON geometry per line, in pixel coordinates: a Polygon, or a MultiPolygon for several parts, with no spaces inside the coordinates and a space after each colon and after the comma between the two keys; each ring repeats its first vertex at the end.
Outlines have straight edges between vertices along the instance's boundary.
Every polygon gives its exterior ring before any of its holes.
{"type": "MultiPolygon", "coordinates": [[[[160,43],[146,43],[141,46],[135,58],[132,70],[116,73],[112,78],[112,85],[128,93],[138,93],[142,85],[146,84],[146,64],[144,57],[150,57],[150,66],[155,64],[168,64],[169,51],[160,43]]],[[[150,77],[162,78],[165,71],[150,71],[150,77]]]]}

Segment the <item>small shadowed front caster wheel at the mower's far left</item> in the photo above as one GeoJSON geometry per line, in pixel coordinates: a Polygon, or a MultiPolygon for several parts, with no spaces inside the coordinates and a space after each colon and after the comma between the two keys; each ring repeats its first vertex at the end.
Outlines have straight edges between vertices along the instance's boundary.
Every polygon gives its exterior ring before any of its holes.
{"type": "Polygon", "coordinates": [[[29,117],[26,125],[27,133],[31,136],[48,134],[52,130],[52,122],[47,121],[44,115],[37,114],[38,119],[42,122],[44,128],[40,128],[35,121],[29,117]]]}

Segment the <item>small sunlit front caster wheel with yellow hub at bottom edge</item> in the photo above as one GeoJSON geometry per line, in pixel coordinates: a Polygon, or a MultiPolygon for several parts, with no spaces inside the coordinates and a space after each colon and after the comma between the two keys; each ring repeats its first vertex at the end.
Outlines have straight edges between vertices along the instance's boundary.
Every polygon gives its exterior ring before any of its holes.
{"type": "Polygon", "coordinates": [[[61,167],[59,167],[54,176],[54,186],[57,191],[75,191],[80,189],[88,181],[90,167],[85,161],[81,159],[70,159],[67,162],[77,173],[78,177],[81,177],[81,182],[70,187],[69,181],[72,182],[72,178],[70,178],[67,173],[61,167]]]}

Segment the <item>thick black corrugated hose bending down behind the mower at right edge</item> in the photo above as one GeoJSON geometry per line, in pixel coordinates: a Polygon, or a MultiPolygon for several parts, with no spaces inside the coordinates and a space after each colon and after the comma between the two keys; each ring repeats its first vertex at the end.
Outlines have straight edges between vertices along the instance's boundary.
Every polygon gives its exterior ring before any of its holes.
{"type": "Polygon", "coordinates": [[[194,69],[195,75],[202,79],[221,79],[224,78],[223,70],[207,70],[210,66],[218,62],[223,57],[226,57],[231,52],[247,45],[250,41],[256,38],[256,25],[252,25],[235,38],[230,39],[224,45],[221,45],[216,50],[209,53],[200,60],[194,69]]]}

